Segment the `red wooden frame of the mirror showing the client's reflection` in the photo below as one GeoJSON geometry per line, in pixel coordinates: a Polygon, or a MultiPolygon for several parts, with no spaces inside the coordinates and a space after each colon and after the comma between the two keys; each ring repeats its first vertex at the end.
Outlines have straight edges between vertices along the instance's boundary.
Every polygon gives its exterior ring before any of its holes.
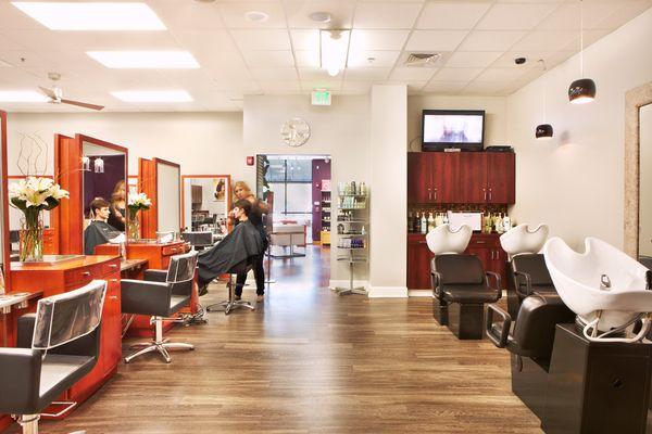
{"type": "MultiPolygon", "coordinates": [[[[59,254],[84,254],[84,171],[82,156],[84,142],[108,148],[125,154],[125,182],[129,174],[129,150],[118,144],[96,139],[90,136],[75,135],[71,138],[54,135],[54,180],[62,189],[71,193],[71,197],[50,214],[50,226],[57,229],[59,237],[59,254]]],[[[126,194],[128,195],[128,191],[126,194]]],[[[128,196],[125,197],[128,201],[128,196]]]]}

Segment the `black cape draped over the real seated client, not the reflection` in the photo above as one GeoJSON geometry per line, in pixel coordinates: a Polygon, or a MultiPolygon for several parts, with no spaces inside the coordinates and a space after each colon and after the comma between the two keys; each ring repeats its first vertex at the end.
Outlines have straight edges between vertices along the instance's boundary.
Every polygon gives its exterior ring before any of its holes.
{"type": "Polygon", "coordinates": [[[260,231],[251,221],[242,221],[214,247],[199,255],[199,283],[211,282],[234,266],[265,252],[260,231]]]}

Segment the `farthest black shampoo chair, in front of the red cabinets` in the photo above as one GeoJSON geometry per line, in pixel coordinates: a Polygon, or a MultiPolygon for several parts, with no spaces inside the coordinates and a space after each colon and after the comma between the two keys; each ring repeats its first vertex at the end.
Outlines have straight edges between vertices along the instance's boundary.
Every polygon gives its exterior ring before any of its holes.
{"type": "Polygon", "coordinates": [[[485,272],[475,255],[451,254],[435,256],[430,277],[435,319],[461,340],[482,339],[485,304],[502,295],[500,276],[485,272]]]}

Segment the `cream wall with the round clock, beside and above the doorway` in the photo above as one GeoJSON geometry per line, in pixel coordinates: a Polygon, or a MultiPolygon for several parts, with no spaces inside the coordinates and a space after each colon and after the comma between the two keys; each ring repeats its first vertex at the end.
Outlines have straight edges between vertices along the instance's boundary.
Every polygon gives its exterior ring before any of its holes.
{"type": "MultiPolygon", "coordinates": [[[[355,180],[369,184],[369,101],[367,97],[334,97],[330,106],[313,106],[310,97],[246,97],[244,143],[242,155],[255,154],[309,154],[330,155],[331,184],[355,180]],[[311,127],[311,138],[301,148],[290,148],[280,139],[280,126],[292,117],[301,117],[311,127]]],[[[255,167],[243,174],[253,188],[255,167]]],[[[373,200],[373,194],[372,194],[373,200]]],[[[374,222],[372,221],[372,227],[374,222]]],[[[336,224],[331,228],[336,228],[336,224]]],[[[348,265],[337,261],[337,234],[331,231],[330,278],[331,284],[347,284],[348,265]]],[[[368,280],[368,269],[355,266],[354,279],[361,283],[368,280]]]]}

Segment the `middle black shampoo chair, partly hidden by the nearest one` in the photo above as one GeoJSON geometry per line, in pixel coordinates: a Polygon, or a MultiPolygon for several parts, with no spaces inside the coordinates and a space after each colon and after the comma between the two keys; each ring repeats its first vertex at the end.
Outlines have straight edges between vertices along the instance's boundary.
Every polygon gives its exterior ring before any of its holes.
{"type": "Polygon", "coordinates": [[[512,318],[518,317],[521,304],[532,293],[556,295],[543,255],[530,253],[515,255],[509,268],[514,282],[513,290],[507,289],[507,311],[512,318]]]}

